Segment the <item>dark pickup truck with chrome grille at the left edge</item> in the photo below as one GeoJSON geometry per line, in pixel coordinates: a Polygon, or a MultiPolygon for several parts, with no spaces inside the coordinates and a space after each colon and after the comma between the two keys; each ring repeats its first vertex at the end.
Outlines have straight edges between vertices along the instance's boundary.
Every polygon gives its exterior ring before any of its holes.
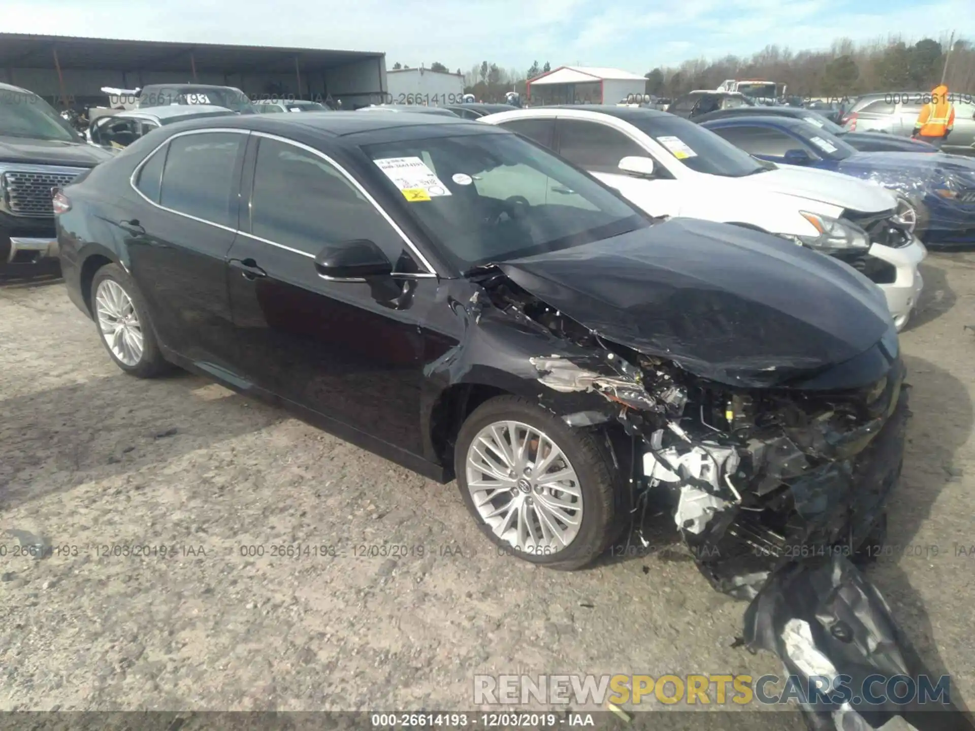
{"type": "Polygon", "coordinates": [[[111,157],[40,96],[0,84],[0,272],[57,257],[51,189],[111,157]]]}

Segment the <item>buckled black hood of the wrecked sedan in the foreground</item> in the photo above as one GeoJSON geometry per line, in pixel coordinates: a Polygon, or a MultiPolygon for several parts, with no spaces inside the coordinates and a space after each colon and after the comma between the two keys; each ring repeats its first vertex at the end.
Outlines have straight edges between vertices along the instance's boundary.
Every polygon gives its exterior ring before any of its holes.
{"type": "Polygon", "coordinates": [[[729,385],[814,376],[891,327],[880,290],[838,259],[692,218],[497,266],[601,337],[729,385]]]}

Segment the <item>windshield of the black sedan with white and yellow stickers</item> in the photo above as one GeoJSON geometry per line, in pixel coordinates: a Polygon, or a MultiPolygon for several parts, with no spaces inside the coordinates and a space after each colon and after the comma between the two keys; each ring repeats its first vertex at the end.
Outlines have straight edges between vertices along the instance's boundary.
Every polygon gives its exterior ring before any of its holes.
{"type": "Polygon", "coordinates": [[[518,135],[437,136],[363,149],[460,272],[649,225],[601,183],[518,135]]]}

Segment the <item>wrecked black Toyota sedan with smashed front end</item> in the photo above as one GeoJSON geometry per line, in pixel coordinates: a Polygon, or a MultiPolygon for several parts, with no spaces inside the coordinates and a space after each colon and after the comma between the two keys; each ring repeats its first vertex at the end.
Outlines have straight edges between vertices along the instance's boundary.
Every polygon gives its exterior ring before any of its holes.
{"type": "Polygon", "coordinates": [[[906,406],[880,291],[761,232],[650,219],[519,135],[205,119],[54,204],[68,292],[122,370],[205,373],[456,477],[526,560],[579,567],[667,504],[737,591],[882,522],[906,406]]]}

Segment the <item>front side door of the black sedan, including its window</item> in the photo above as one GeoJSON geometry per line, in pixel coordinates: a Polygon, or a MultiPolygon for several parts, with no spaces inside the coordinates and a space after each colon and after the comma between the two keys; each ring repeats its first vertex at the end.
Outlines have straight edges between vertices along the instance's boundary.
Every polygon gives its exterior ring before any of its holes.
{"type": "Polygon", "coordinates": [[[421,273],[404,237],[328,155],[254,133],[247,169],[249,203],[228,276],[248,381],[420,453],[417,313],[433,301],[435,275],[421,273]],[[386,254],[393,277],[319,274],[315,256],[326,245],[362,239],[386,254]]]}

